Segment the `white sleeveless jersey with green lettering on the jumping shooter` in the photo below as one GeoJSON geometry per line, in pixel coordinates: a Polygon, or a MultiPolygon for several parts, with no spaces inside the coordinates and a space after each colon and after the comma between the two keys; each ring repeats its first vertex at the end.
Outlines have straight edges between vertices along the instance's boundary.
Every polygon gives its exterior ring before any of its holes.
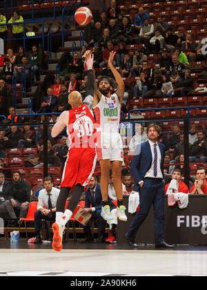
{"type": "Polygon", "coordinates": [[[94,108],[97,124],[102,132],[119,132],[121,105],[116,93],[110,97],[101,95],[99,104],[94,108]]]}

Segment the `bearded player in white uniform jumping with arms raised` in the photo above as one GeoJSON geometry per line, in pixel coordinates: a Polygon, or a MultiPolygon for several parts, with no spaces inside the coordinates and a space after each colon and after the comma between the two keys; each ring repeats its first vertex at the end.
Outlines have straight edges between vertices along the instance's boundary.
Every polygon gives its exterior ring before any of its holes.
{"type": "Polygon", "coordinates": [[[97,158],[101,166],[100,186],[103,199],[101,216],[105,220],[112,220],[108,205],[108,180],[111,168],[117,195],[117,216],[119,220],[127,220],[125,214],[126,207],[123,205],[121,182],[121,164],[124,159],[124,154],[121,136],[119,135],[124,81],[112,64],[115,52],[110,52],[110,57],[108,59],[108,68],[110,68],[117,81],[117,91],[112,95],[110,79],[108,79],[108,77],[101,77],[97,84],[95,72],[93,72],[93,55],[91,52],[87,52],[85,56],[89,71],[88,77],[94,77],[94,99],[92,106],[97,121],[97,158]]]}

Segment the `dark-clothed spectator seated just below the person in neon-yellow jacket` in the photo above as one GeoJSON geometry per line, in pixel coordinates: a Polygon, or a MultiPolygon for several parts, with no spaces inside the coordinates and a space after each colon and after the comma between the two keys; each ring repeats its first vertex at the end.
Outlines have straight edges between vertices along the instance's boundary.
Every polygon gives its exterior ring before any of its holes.
{"type": "Polygon", "coordinates": [[[166,73],[170,75],[170,81],[172,81],[173,88],[177,88],[179,80],[184,78],[186,67],[184,64],[180,64],[177,55],[172,55],[172,66],[167,68],[166,73]]]}

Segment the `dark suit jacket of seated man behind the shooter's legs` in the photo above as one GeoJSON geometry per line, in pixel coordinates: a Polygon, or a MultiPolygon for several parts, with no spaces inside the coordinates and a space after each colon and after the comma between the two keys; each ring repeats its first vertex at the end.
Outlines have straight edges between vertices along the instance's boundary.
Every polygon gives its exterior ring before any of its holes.
{"type": "MultiPolygon", "coordinates": [[[[92,193],[88,187],[88,190],[85,193],[86,195],[86,203],[85,208],[88,209],[92,205],[92,193]]],[[[112,203],[110,200],[110,197],[108,197],[108,205],[110,206],[110,210],[115,209],[115,204],[112,203]]],[[[95,209],[96,211],[101,209],[102,206],[102,196],[101,196],[101,187],[100,184],[97,184],[96,190],[95,190],[95,209]]]]}

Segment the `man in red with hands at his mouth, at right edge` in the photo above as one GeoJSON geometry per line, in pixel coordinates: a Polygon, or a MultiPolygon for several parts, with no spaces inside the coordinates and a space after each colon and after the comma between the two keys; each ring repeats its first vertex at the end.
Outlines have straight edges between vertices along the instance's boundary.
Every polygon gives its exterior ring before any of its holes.
{"type": "Polygon", "coordinates": [[[197,168],[196,180],[194,185],[190,189],[190,194],[206,194],[207,182],[206,182],[206,168],[200,166],[197,168]]]}

